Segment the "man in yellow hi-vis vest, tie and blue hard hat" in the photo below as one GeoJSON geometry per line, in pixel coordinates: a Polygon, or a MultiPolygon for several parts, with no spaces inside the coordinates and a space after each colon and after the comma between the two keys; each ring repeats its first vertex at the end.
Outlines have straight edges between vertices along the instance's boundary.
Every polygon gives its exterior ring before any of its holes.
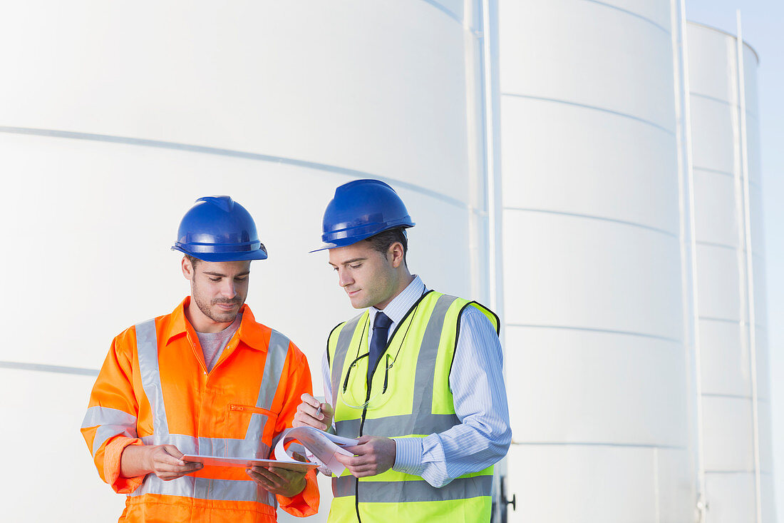
{"type": "Polygon", "coordinates": [[[332,477],[328,521],[489,521],[493,464],[511,441],[499,320],[427,289],[406,265],[414,222],[377,180],[341,185],[324,244],[359,316],[332,329],[325,403],[303,394],[294,426],[356,437],[332,477]]]}

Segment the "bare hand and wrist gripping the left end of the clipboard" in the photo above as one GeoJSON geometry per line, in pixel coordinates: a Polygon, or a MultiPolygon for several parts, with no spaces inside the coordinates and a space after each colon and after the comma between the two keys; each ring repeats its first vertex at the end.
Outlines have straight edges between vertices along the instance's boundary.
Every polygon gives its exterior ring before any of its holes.
{"type": "Polygon", "coordinates": [[[122,451],[121,473],[124,477],[155,474],[170,481],[201,470],[201,463],[189,463],[174,445],[129,445],[122,451]]]}

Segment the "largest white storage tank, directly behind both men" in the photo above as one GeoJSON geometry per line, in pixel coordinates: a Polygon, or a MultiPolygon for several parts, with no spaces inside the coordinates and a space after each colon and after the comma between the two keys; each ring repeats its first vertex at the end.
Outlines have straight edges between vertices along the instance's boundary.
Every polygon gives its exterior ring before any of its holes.
{"type": "Polygon", "coordinates": [[[307,254],[337,185],[389,181],[418,224],[412,270],[488,301],[479,5],[4,8],[0,68],[14,74],[0,84],[13,101],[0,108],[0,217],[13,226],[0,264],[13,328],[0,412],[19,429],[2,434],[15,449],[6,518],[120,514],[124,497],[78,429],[111,338],[187,294],[169,246],[198,196],[230,194],[256,218],[270,258],[253,265],[248,303],[307,354],[317,391],[325,337],[354,314],[326,255],[307,254]],[[45,486],[41,463],[67,481],[45,486]]]}

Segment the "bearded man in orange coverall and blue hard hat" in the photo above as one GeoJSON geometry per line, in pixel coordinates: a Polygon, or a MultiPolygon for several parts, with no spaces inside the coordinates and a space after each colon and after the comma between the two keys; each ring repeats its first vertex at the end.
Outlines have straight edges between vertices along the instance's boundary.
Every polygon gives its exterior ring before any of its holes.
{"type": "Polygon", "coordinates": [[[196,200],[172,249],[191,296],[114,338],[82,422],[100,477],[128,495],[120,521],[276,521],[278,503],[315,514],[314,470],[180,459],[269,457],[312,386],[303,353],[244,305],[250,262],[267,258],[245,207],[196,200]]]}

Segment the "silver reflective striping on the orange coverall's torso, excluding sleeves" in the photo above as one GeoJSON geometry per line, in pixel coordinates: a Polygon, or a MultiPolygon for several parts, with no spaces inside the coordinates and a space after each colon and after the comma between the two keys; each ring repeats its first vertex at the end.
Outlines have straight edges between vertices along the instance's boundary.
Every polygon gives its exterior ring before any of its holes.
{"type": "MultiPolygon", "coordinates": [[[[220,437],[194,437],[186,434],[170,434],[166,422],[166,408],[163,400],[161,374],[158,370],[158,338],[155,321],[147,320],[136,325],[136,351],[139,355],[139,370],[142,388],[153,415],[153,433],[141,438],[143,444],[173,444],[183,454],[227,455],[267,458],[270,447],[263,444],[264,425],[267,415],[252,413],[244,439],[220,437]]],[[[286,355],[289,353],[289,339],[274,329],[270,333],[267,348],[267,362],[264,364],[263,378],[256,400],[256,407],[270,410],[278,388],[286,355]]],[[[171,481],[162,481],[154,474],[147,474],[144,483],[130,496],[144,494],[163,494],[185,496],[198,499],[222,499],[227,501],[256,501],[276,507],[275,496],[255,481],[219,480],[209,477],[183,476],[171,481]]]]}

